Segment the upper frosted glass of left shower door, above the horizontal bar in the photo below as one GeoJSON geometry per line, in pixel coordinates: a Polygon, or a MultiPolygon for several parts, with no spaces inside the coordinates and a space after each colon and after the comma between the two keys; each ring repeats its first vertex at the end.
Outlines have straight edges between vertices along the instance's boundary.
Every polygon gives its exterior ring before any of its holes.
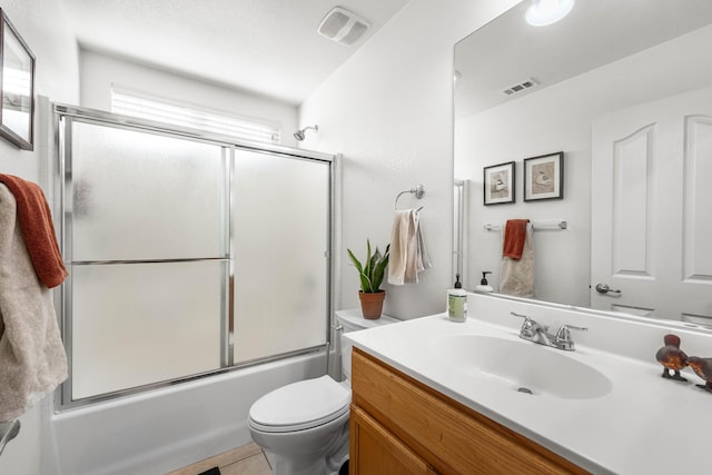
{"type": "Polygon", "coordinates": [[[224,257],[218,146],[75,122],[72,260],[224,257]]]}

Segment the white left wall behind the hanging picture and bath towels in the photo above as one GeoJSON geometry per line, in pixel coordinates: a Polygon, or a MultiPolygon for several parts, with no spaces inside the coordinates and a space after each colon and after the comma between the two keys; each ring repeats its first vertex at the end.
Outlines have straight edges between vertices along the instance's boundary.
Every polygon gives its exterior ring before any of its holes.
{"type": "MultiPolygon", "coordinates": [[[[78,55],[73,36],[66,22],[59,0],[0,0],[0,8],[10,18],[36,58],[34,95],[50,100],[77,102],[78,55]]],[[[0,172],[16,175],[40,184],[46,195],[48,157],[53,155],[52,137],[47,123],[34,113],[34,150],[21,151],[0,139],[0,172]]],[[[0,457],[0,474],[39,475],[42,469],[44,427],[50,400],[46,398],[22,417],[20,434],[0,457]]]]}

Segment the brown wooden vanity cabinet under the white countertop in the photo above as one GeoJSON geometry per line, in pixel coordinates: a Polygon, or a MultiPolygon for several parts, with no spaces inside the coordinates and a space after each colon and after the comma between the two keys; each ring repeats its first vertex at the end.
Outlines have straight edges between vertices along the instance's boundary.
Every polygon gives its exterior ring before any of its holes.
{"type": "Polygon", "coordinates": [[[352,475],[586,474],[354,347],[352,475]]]}

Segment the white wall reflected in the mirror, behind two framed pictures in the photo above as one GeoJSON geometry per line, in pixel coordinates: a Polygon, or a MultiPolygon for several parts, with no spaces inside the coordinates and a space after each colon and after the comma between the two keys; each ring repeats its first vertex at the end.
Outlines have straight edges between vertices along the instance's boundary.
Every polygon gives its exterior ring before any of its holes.
{"type": "Polygon", "coordinates": [[[544,300],[590,304],[591,121],[605,112],[696,89],[712,82],[704,58],[712,41],[705,27],[609,66],[459,119],[455,128],[455,174],[471,180],[469,249],[465,283],[494,270],[497,290],[500,232],[483,225],[512,218],[565,219],[565,231],[534,232],[536,294],[544,300]],[[686,55],[682,55],[685,51],[686,55]],[[654,78],[654,79],[653,79],[654,78]],[[564,151],[564,199],[524,202],[523,159],[564,151]],[[483,206],[483,167],[516,161],[516,204],[483,206]]]}

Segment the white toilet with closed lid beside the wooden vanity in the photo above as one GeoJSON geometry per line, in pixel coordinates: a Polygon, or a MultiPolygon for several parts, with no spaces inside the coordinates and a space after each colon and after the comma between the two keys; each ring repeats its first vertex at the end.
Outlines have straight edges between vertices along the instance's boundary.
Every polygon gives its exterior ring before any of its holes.
{"type": "MultiPolygon", "coordinates": [[[[360,309],[339,310],[336,320],[344,333],[399,321],[386,315],[367,320],[360,309]]],[[[253,441],[277,475],[336,475],[348,459],[352,348],[343,340],[339,345],[342,383],[329,376],[293,383],[267,393],[249,409],[253,441]]]]}

